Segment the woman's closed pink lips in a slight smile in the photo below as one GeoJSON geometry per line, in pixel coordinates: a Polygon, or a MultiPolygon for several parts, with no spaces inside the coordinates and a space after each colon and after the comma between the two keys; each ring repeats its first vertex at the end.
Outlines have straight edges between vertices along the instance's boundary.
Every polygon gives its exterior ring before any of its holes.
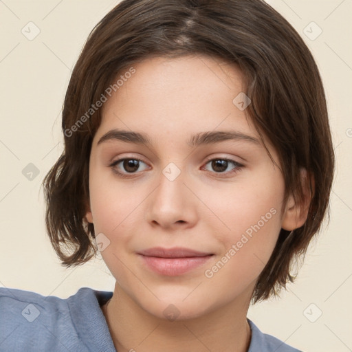
{"type": "Polygon", "coordinates": [[[186,272],[204,265],[213,255],[180,247],[149,248],[138,254],[148,269],[166,276],[186,274],[186,272]]]}

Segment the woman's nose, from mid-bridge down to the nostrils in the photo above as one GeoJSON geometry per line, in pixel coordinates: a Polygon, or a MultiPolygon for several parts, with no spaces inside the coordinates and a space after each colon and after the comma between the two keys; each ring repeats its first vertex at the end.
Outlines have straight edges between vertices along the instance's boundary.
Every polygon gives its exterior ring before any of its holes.
{"type": "Polygon", "coordinates": [[[146,204],[148,223],[165,229],[186,229],[194,226],[199,199],[187,184],[186,171],[181,171],[170,163],[162,170],[157,182],[157,187],[146,204]]]}

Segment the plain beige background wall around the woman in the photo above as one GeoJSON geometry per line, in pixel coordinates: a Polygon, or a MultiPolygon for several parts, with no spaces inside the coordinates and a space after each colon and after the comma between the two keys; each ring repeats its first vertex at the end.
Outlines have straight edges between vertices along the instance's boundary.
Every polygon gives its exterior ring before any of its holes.
{"type": "MultiPolygon", "coordinates": [[[[338,164],[329,227],[311,243],[296,283],[281,300],[251,307],[248,316],[303,351],[351,351],[352,1],[269,2],[303,36],[320,67],[338,164]]],[[[113,290],[101,257],[61,267],[45,234],[40,187],[63,148],[61,107],[70,70],[90,30],[116,3],[0,0],[0,285],[61,298],[80,287],[113,290]],[[21,32],[29,32],[30,21],[32,35],[40,30],[32,40],[21,32]],[[39,169],[32,180],[22,173],[29,163],[39,169]]]]}

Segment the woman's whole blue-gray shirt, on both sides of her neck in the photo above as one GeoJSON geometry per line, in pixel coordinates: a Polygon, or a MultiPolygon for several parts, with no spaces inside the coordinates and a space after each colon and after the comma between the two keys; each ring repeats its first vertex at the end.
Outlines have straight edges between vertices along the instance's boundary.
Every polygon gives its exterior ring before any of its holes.
{"type": "MultiPolygon", "coordinates": [[[[112,295],[82,287],[63,299],[1,287],[0,352],[116,352],[100,308],[112,295]]],[[[248,352],[300,352],[248,322],[248,352]]]]}

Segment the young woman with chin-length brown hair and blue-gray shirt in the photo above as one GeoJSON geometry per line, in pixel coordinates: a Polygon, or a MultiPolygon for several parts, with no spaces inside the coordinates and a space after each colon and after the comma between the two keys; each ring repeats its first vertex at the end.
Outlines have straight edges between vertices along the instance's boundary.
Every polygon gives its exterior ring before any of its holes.
{"type": "Polygon", "coordinates": [[[72,72],[63,134],[48,234],[67,267],[100,250],[115,289],[0,289],[0,351],[298,351],[246,317],[294,281],[333,179],[320,75],[280,14],[120,2],[72,72]]]}

